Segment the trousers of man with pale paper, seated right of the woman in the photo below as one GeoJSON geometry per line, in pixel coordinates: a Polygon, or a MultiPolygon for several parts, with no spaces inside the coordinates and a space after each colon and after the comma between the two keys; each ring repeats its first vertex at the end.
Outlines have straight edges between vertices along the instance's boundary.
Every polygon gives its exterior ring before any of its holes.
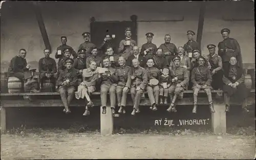
{"type": "Polygon", "coordinates": [[[101,84],[100,86],[100,100],[101,100],[101,106],[106,106],[106,100],[108,96],[108,92],[110,93],[110,107],[115,108],[116,104],[116,86],[111,84],[101,84]]]}

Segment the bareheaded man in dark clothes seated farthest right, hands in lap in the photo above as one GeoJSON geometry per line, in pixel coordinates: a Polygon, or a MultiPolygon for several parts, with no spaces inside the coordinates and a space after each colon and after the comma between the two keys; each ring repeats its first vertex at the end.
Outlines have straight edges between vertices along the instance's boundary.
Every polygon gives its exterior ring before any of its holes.
{"type": "Polygon", "coordinates": [[[229,112],[230,109],[230,97],[234,97],[239,102],[242,103],[242,107],[246,112],[249,112],[246,104],[246,98],[250,92],[250,89],[246,88],[244,84],[244,71],[237,64],[236,57],[231,57],[229,60],[229,67],[227,71],[224,71],[223,76],[223,93],[224,93],[224,102],[226,104],[226,112],[229,112]]]}

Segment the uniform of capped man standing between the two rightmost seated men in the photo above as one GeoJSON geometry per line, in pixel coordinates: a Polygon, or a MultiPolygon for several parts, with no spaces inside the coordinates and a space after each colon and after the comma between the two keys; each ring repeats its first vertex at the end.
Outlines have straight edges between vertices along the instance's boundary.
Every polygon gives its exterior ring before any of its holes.
{"type": "Polygon", "coordinates": [[[223,70],[222,70],[222,59],[217,54],[214,55],[207,55],[208,61],[211,65],[210,72],[215,70],[215,74],[211,74],[212,76],[212,83],[211,86],[214,89],[222,89],[223,88],[223,70]]]}

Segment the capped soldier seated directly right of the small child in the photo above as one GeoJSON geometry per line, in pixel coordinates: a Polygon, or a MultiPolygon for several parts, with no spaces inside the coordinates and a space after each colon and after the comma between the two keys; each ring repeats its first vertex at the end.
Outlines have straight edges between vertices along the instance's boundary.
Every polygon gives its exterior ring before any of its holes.
{"type": "Polygon", "coordinates": [[[184,67],[180,66],[180,57],[175,56],[173,61],[174,67],[170,71],[170,77],[172,77],[173,84],[169,88],[171,103],[169,108],[167,109],[168,112],[177,112],[175,107],[176,99],[178,98],[180,93],[186,89],[187,83],[189,81],[189,71],[187,71],[184,67]]]}

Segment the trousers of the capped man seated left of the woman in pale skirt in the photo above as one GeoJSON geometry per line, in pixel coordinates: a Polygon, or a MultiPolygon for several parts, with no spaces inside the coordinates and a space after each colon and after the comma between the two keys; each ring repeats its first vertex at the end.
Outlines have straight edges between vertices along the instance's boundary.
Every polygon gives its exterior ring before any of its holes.
{"type": "Polygon", "coordinates": [[[70,102],[72,101],[74,97],[75,87],[73,86],[60,86],[59,87],[59,94],[61,97],[61,101],[65,108],[68,108],[70,105],[70,102]],[[68,94],[68,97],[67,97],[68,94]]]}

